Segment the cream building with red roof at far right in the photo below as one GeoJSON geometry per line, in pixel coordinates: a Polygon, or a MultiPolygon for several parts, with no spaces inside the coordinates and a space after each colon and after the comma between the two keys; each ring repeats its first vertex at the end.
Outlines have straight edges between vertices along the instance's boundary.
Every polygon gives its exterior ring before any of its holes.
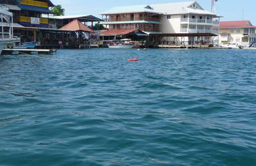
{"type": "Polygon", "coordinates": [[[249,20],[221,21],[221,45],[249,45],[256,38],[255,29],[256,26],[253,26],[249,20]]]}

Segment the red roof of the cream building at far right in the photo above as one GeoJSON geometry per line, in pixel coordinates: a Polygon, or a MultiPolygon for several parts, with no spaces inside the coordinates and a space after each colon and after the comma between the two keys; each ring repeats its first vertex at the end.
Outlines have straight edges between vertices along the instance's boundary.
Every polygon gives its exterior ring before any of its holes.
{"type": "Polygon", "coordinates": [[[243,27],[256,27],[253,26],[249,20],[239,21],[221,21],[220,28],[243,28],[243,27]]]}

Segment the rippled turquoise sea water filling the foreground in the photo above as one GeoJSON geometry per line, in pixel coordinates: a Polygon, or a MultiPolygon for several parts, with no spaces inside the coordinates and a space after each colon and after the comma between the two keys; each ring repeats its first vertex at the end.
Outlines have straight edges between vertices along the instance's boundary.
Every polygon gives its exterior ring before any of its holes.
{"type": "Polygon", "coordinates": [[[0,57],[0,165],[256,163],[256,50],[40,57],[0,57]]]}

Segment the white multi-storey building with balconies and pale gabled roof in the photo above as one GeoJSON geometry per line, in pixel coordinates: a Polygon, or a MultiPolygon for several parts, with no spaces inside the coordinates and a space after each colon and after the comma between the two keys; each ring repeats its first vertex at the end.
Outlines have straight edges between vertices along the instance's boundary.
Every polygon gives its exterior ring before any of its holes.
{"type": "Polygon", "coordinates": [[[152,4],[161,15],[161,33],[216,33],[220,17],[204,10],[196,1],[182,3],[152,4]]]}

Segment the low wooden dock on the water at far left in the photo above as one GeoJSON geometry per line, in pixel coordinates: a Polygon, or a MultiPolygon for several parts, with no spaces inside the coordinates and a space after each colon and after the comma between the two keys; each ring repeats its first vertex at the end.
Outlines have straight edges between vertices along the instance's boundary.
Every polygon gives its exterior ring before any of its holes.
{"type": "Polygon", "coordinates": [[[3,49],[2,54],[53,54],[56,49],[3,49]]]}

